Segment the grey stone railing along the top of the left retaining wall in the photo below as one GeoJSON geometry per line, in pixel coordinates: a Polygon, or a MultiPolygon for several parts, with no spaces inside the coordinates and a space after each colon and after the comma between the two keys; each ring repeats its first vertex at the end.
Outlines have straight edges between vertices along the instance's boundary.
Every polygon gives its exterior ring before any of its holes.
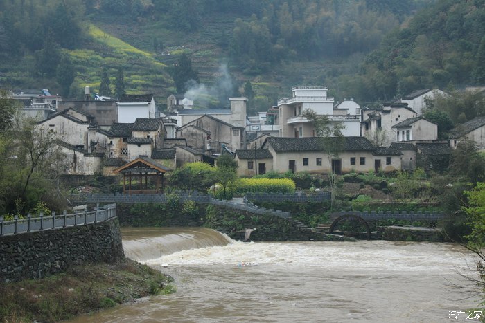
{"type": "Polygon", "coordinates": [[[0,216],[0,237],[8,234],[86,225],[89,223],[107,221],[114,217],[116,217],[116,204],[95,207],[94,211],[88,212],[87,210],[84,210],[83,212],[75,212],[73,214],[67,214],[66,211],[64,211],[63,214],[55,214],[55,212],[53,212],[49,216],[45,216],[42,213],[39,214],[39,216],[27,214],[24,219],[19,219],[15,216],[15,219],[12,221],[3,221],[3,216],[0,216]]]}

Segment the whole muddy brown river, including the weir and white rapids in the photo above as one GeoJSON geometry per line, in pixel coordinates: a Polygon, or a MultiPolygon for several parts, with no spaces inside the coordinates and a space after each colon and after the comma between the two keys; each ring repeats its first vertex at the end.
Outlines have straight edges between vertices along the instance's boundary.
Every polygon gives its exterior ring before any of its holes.
{"type": "Polygon", "coordinates": [[[127,257],[173,276],[177,292],[71,322],[455,322],[478,304],[459,274],[475,277],[476,259],[451,243],[243,243],[205,228],[122,234],[127,257]]]}

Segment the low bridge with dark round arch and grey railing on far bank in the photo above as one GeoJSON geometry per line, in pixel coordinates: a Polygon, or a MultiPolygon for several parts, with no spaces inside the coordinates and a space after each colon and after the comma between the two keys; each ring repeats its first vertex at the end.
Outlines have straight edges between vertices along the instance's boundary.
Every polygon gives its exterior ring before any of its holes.
{"type": "Polygon", "coordinates": [[[364,234],[367,240],[371,239],[372,232],[368,221],[377,220],[405,220],[405,221],[438,221],[446,214],[441,212],[335,212],[330,214],[333,220],[328,233],[335,234],[336,228],[340,228],[343,234],[364,234]]]}

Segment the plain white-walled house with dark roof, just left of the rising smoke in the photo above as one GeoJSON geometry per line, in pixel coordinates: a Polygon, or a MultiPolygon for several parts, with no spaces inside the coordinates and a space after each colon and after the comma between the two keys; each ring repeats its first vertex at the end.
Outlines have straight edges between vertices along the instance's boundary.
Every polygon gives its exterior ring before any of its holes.
{"type": "Polygon", "coordinates": [[[124,94],[117,103],[118,123],[135,122],[137,118],[155,118],[155,100],[152,94],[124,94]]]}

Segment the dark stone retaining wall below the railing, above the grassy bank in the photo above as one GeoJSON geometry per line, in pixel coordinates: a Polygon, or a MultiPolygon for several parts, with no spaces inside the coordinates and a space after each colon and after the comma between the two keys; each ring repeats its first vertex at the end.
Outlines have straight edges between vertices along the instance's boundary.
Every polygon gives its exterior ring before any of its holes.
{"type": "Polygon", "coordinates": [[[0,237],[0,280],[42,278],[70,266],[125,257],[117,219],[0,237]]]}

